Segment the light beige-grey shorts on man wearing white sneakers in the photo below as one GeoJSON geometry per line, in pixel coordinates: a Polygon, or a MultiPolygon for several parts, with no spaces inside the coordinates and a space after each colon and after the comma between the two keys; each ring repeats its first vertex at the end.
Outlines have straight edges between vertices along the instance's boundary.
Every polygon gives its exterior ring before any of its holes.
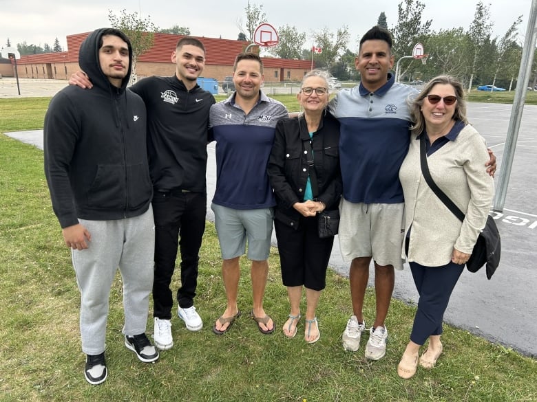
{"type": "Polygon", "coordinates": [[[339,205],[339,248],[344,260],[372,257],[378,265],[403,269],[405,204],[351,203],[339,205]]]}

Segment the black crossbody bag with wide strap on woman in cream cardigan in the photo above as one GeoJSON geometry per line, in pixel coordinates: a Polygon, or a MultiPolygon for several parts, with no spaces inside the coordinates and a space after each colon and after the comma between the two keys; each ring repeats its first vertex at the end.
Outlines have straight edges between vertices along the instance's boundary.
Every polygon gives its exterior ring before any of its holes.
{"type": "MultiPolygon", "coordinates": [[[[425,133],[421,135],[420,139],[420,164],[421,164],[421,173],[423,178],[427,181],[427,184],[431,190],[436,194],[436,197],[439,197],[440,201],[444,203],[448,210],[450,210],[459,220],[464,221],[464,213],[457,207],[453,201],[443,192],[434,180],[431,177],[429,172],[429,166],[427,164],[427,146],[425,144],[425,133]]],[[[496,222],[492,216],[487,216],[487,223],[485,227],[479,234],[476,244],[474,245],[474,250],[472,251],[472,256],[466,263],[466,268],[470,272],[477,272],[487,265],[487,279],[492,278],[494,272],[500,264],[501,257],[501,239],[500,232],[496,226],[496,222]]]]}

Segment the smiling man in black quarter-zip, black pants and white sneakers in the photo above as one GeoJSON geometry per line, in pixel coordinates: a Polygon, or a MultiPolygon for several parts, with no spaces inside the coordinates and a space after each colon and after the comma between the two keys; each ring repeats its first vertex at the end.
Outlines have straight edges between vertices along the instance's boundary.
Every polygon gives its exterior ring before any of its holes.
{"type": "MultiPolygon", "coordinates": [[[[180,38],[171,61],[176,65],[173,76],[147,77],[130,87],[147,107],[155,218],[154,340],[161,350],[173,346],[171,278],[178,250],[181,286],[176,295],[177,314],[189,331],[200,331],[203,326],[194,298],[207,214],[209,109],[215,103],[211,93],[197,84],[205,67],[203,43],[191,36],[180,38]]],[[[81,71],[73,74],[69,83],[93,87],[81,71]]]]}

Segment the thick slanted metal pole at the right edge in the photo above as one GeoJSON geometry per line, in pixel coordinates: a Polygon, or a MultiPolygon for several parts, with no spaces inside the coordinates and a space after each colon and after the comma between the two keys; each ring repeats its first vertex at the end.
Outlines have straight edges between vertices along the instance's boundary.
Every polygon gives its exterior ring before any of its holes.
{"type": "Polygon", "coordinates": [[[537,40],[537,0],[531,1],[531,10],[527,23],[526,38],[522,51],[522,60],[520,60],[520,69],[518,70],[518,80],[516,81],[516,91],[513,100],[513,109],[509,120],[509,128],[507,129],[507,138],[505,139],[505,151],[503,153],[502,166],[500,176],[498,177],[498,186],[496,187],[496,195],[494,196],[494,211],[503,211],[505,197],[507,195],[507,186],[509,177],[511,176],[511,168],[513,166],[514,151],[516,148],[516,140],[518,139],[518,131],[520,130],[520,120],[522,120],[522,112],[524,102],[526,100],[526,87],[531,74],[531,63],[534,59],[534,49],[537,40]]]}

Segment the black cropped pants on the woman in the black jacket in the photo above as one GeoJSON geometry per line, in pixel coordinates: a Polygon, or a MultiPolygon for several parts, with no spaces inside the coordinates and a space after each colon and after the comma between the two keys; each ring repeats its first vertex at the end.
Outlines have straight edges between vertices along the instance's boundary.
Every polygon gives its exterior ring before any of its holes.
{"type": "Polygon", "coordinates": [[[315,291],[326,287],[326,269],[334,237],[319,238],[319,215],[300,217],[298,229],[274,220],[274,229],[285,286],[302,286],[315,291]]]}

